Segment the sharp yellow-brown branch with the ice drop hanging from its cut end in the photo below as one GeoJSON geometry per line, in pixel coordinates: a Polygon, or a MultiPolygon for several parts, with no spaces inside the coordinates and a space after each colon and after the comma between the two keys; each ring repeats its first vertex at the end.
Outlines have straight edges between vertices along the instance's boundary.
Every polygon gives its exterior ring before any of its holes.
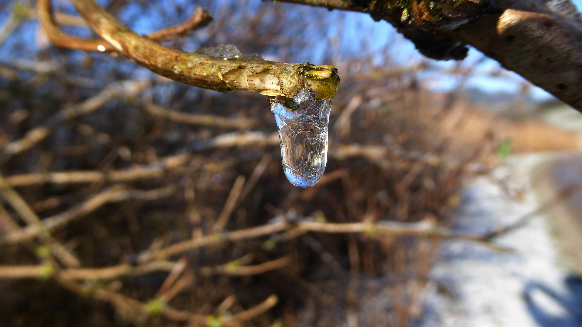
{"type": "MultiPolygon", "coordinates": [[[[154,73],[182,83],[221,92],[235,89],[253,91],[272,97],[292,97],[301,88],[308,88],[314,91],[316,98],[329,99],[338,90],[339,77],[333,66],[246,58],[226,60],[189,54],[164,47],[127,29],[94,0],[72,2],[91,29],[109,42],[115,51],[154,73]]],[[[44,17],[45,21],[48,19],[44,17]]]]}

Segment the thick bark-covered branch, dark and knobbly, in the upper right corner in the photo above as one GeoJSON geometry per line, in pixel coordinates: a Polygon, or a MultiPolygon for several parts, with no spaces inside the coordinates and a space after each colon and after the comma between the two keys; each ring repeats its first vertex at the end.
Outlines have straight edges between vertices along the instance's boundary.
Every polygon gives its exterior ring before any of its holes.
{"type": "Polygon", "coordinates": [[[569,0],[283,0],[384,19],[435,59],[472,45],[582,111],[582,20],[569,0]]]}

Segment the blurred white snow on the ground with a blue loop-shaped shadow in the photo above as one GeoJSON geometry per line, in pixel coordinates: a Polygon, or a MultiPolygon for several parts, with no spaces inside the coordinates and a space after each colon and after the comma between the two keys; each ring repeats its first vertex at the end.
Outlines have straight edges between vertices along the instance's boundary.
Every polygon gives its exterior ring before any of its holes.
{"type": "MultiPolygon", "coordinates": [[[[467,185],[452,228],[487,232],[535,211],[540,201],[530,172],[552,158],[555,155],[515,156],[467,185]]],[[[544,215],[535,215],[527,225],[495,241],[512,249],[509,253],[469,241],[443,242],[425,314],[415,325],[581,327],[582,280],[556,264],[558,247],[544,215]]]]}

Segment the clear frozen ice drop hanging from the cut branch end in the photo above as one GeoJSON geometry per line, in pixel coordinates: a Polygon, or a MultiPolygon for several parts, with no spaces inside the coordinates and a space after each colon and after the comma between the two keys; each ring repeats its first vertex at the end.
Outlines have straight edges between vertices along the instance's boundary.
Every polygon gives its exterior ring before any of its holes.
{"type": "Polygon", "coordinates": [[[283,171],[294,186],[313,186],[325,171],[331,101],[315,99],[313,92],[306,90],[288,101],[271,100],[283,171]]]}

